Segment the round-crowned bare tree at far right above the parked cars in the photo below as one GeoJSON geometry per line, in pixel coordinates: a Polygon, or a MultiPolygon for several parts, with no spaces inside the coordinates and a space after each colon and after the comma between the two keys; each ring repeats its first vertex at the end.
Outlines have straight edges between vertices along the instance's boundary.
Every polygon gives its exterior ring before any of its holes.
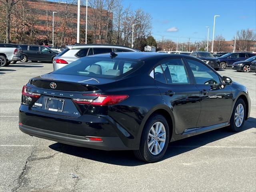
{"type": "Polygon", "coordinates": [[[247,49],[249,49],[250,41],[254,41],[256,39],[256,34],[250,29],[241,29],[236,32],[236,36],[236,46],[241,51],[247,51],[247,49]]]}

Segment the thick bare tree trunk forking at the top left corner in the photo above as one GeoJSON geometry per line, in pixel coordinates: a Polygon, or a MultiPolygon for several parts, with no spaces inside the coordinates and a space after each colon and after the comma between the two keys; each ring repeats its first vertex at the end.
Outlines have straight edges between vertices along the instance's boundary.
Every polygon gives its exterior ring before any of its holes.
{"type": "Polygon", "coordinates": [[[6,10],[6,43],[10,43],[10,20],[13,6],[20,0],[0,0],[6,10]]]}

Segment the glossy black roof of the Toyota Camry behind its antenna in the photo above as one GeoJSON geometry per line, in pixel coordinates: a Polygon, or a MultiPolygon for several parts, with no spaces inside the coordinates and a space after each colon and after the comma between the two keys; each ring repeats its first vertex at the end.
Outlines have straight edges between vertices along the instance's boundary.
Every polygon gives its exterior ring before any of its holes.
{"type": "MultiPolygon", "coordinates": [[[[180,57],[181,54],[166,54],[166,53],[159,53],[159,52],[116,52],[117,56],[115,58],[125,58],[125,59],[135,59],[135,60],[142,60],[146,58],[170,58],[170,57],[180,57]]],[[[91,55],[88,57],[110,57],[110,53],[104,53],[104,54],[97,54],[97,55],[91,55]]],[[[182,57],[188,57],[188,58],[194,58],[189,55],[183,55],[182,57]]]]}

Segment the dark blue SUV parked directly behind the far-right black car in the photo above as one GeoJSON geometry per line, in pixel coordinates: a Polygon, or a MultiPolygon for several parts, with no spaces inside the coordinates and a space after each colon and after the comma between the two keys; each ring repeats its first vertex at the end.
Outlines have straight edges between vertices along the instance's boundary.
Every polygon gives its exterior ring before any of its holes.
{"type": "Polygon", "coordinates": [[[244,61],[250,57],[255,56],[252,53],[247,52],[236,52],[236,53],[227,53],[221,57],[218,57],[220,60],[220,68],[225,69],[226,67],[232,67],[234,62],[244,61]]]}

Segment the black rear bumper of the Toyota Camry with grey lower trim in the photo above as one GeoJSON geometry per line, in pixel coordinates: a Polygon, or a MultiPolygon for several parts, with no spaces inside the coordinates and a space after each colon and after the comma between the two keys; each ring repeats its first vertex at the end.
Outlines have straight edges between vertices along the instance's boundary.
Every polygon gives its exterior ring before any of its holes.
{"type": "Polygon", "coordinates": [[[88,115],[80,118],[46,114],[21,105],[19,128],[31,136],[60,143],[101,150],[133,150],[127,147],[117,133],[117,128],[101,116],[88,115]],[[101,138],[92,141],[89,137],[101,138]]]}

